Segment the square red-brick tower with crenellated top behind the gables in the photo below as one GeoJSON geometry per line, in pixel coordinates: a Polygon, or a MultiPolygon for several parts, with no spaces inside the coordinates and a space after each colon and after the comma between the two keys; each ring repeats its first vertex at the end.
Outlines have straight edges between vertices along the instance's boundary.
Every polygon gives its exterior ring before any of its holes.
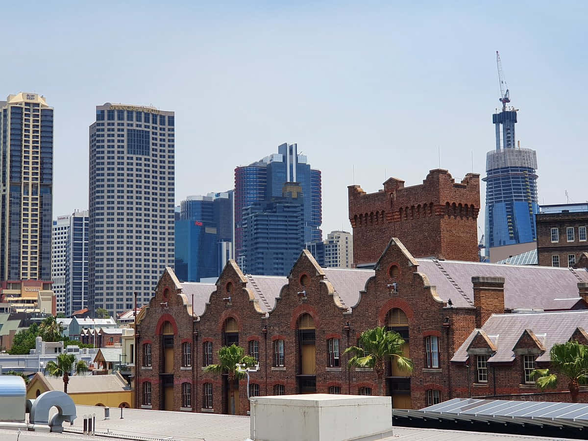
{"type": "Polygon", "coordinates": [[[366,193],[348,187],[353,228],[353,262],[376,262],[391,237],[415,257],[477,261],[480,175],[467,173],[456,183],[447,170],[431,170],[420,185],[390,178],[383,190],[366,193]]]}

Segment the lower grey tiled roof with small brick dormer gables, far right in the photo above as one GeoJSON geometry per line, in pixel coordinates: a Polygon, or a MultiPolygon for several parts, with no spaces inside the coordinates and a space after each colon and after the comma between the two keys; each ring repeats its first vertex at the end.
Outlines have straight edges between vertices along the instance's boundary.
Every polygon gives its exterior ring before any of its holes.
{"type": "MultiPolygon", "coordinates": [[[[524,330],[529,329],[545,348],[537,361],[549,361],[549,351],[555,343],[565,343],[576,328],[588,329],[588,310],[493,314],[482,326],[483,332],[496,346],[496,352],[489,362],[510,362],[515,359],[513,348],[524,330]]],[[[476,337],[478,329],[468,336],[463,345],[453,355],[453,362],[467,360],[467,348],[476,337]]]]}

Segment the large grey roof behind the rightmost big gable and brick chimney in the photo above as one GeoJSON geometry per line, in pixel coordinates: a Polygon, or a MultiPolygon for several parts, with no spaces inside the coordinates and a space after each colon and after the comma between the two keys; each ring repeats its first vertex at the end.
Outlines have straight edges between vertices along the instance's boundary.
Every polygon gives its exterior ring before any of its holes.
{"type": "Polygon", "coordinates": [[[505,278],[505,307],[569,309],[580,300],[577,283],[588,282],[586,269],[551,266],[499,265],[456,260],[416,259],[418,271],[425,273],[437,295],[451,299],[454,306],[473,306],[472,277],[505,278]],[[445,273],[443,272],[445,271],[445,273]]]}

